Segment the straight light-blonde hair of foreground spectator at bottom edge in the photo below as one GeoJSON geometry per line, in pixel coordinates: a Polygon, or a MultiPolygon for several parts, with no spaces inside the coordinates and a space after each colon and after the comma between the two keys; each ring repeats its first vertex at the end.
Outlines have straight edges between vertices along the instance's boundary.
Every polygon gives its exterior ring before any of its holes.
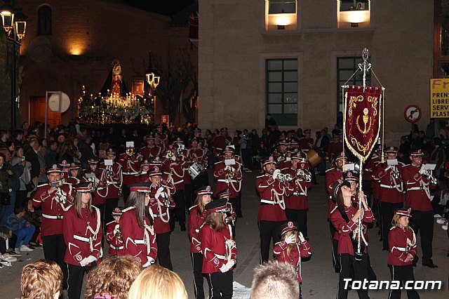
{"type": "Polygon", "coordinates": [[[152,265],[135,279],[128,299],[187,299],[187,291],[180,277],[167,268],[152,265]]]}

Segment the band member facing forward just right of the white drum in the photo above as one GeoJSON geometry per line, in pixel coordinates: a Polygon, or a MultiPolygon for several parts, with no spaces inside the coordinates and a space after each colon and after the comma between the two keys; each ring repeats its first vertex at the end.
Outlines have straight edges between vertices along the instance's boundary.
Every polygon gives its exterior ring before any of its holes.
{"type": "Polygon", "coordinates": [[[218,161],[215,164],[213,171],[213,177],[215,179],[215,194],[221,192],[222,190],[229,190],[232,195],[229,198],[229,202],[234,207],[237,215],[241,213],[241,206],[239,206],[239,192],[241,190],[241,164],[234,161],[234,164],[228,164],[227,161],[232,161],[234,159],[234,151],[232,149],[227,149],[223,152],[223,161],[218,161]],[[240,210],[239,210],[240,209],[240,210]]]}

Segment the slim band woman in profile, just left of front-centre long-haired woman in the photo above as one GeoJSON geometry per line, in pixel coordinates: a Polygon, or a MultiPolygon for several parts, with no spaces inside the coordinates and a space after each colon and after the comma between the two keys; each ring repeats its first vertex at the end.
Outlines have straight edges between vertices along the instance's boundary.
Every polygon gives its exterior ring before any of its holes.
{"type": "MultiPolygon", "coordinates": [[[[201,239],[199,238],[199,230],[203,225],[204,218],[208,214],[206,204],[210,203],[212,191],[210,186],[200,187],[196,192],[195,205],[189,208],[189,239],[190,254],[192,255],[192,265],[194,268],[194,293],[196,299],[204,299],[203,290],[203,253],[201,251],[201,239]]],[[[210,291],[210,281],[207,276],[210,291]]]]}

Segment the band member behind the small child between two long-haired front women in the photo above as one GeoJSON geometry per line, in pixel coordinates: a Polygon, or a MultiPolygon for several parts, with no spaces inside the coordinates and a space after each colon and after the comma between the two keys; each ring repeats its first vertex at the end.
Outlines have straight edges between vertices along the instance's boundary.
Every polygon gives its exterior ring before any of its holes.
{"type": "Polygon", "coordinates": [[[105,182],[106,188],[102,190],[100,196],[105,197],[105,222],[111,222],[112,211],[119,204],[119,197],[121,196],[121,183],[123,181],[123,175],[121,171],[121,165],[114,162],[116,153],[109,148],[106,152],[107,160],[112,160],[112,166],[106,166],[105,161],[98,166],[102,171],[100,181],[105,182]]]}

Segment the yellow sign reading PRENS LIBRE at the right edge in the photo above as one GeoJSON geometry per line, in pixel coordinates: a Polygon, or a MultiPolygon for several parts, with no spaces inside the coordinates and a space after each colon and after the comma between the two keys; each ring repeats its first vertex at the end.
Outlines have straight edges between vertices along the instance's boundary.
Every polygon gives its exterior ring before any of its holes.
{"type": "Polygon", "coordinates": [[[449,79],[430,79],[430,117],[449,118],[449,79]]]}

